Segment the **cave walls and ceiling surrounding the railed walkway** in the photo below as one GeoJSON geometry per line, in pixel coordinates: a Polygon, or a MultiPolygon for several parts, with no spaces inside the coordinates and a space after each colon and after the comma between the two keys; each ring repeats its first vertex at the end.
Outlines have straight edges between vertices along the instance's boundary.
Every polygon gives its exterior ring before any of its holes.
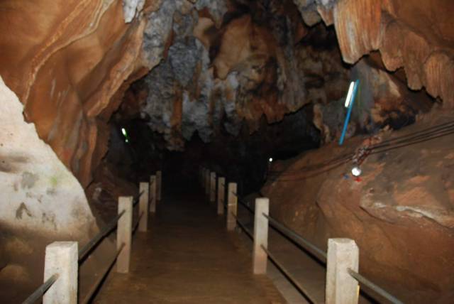
{"type": "Polygon", "coordinates": [[[150,175],[172,200],[202,193],[209,168],[323,250],[354,239],[361,272],[404,302],[453,303],[453,13],[450,0],[1,1],[0,299],[22,301],[46,245],[93,237],[150,175]]]}

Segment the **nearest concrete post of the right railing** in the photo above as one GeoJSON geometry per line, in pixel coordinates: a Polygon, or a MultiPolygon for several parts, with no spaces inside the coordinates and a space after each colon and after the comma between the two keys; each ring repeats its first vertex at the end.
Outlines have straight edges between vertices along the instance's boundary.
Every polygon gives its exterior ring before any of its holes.
{"type": "Polygon", "coordinates": [[[353,239],[328,239],[326,260],[326,304],[358,303],[358,281],[348,268],[358,271],[359,250],[353,239]]]}

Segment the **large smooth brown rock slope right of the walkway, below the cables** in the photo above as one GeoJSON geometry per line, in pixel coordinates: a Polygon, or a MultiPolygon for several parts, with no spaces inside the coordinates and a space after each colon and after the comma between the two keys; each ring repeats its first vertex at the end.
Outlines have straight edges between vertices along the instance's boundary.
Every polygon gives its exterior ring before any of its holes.
{"type": "MultiPolygon", "coordinates": [[[[436,112],[378,141],[452,121],[436,112]]],[[[453,136],[366,158],[355,179],[350,161],[333,158],[364,145],[350,139],[289,162],[275,163],[262,190],[271,214],[318,246],[329,237],[355,239],[360,271],[409,303],[453,301],[453,136]],[[428,148],[430,145],[430,148],[428,148]],[[331,161],[331,162],[330,162],[331,161]]]]}

